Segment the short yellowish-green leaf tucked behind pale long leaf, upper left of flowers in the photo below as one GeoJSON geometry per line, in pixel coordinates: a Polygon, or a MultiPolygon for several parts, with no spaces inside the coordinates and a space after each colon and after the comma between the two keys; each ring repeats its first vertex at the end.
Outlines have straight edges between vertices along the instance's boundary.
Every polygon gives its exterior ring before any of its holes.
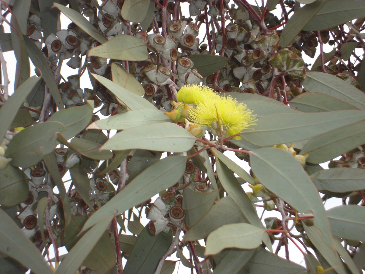
{"type": "Polygon", "coordinates": [[[112,62],[112,80],[114,83],[139,96],[145,94],[145,90],[141,83],[139,83],[133,75],[128,73],[123,66],[115,62],[112,62]]]}

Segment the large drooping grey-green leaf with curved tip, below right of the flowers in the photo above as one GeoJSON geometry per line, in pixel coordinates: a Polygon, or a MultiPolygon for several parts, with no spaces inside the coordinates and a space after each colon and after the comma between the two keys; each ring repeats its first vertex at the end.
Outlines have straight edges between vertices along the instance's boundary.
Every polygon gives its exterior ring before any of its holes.
{"type": "MultiPolygon", "coordinates": [[[[327,247],[323,256],[334,266],[334,250],[326,211],[314,184],[301,164],[290,153],[277,148],[262,148],[250,154],[250,164],[257,179],[298,212],[311,210],[314,224],[321,233],[320,244],[327,247]]],[[[309,236],[309,235],[308,235],[309,236]]],[[[315,244],[315,243],[314,243],[315,244]]],[[[317,247],[317,245],[315,244],[317,247]]]]}

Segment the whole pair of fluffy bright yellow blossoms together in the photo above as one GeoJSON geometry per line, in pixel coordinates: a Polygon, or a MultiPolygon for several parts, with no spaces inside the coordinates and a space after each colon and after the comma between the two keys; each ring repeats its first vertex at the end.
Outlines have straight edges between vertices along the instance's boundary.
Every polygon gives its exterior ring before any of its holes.
{"type": "Polygon", "coordinates": [[[177,92],[177,100],[184,104],[195,104],[188,111],[190,121],[208,126],[216,133],[223,130],[232,136],[255,125],[257,121],[245,104],[238,103],[231,96],[219,96],[206,86],[185,85],[177,92]]]}

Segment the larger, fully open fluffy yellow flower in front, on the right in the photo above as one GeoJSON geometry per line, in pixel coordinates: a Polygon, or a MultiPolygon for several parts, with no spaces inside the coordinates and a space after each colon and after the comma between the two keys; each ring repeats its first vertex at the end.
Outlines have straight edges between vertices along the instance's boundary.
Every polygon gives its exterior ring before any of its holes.
{"type": "Polygon", "coordinates": [[[219,130],[222,126],[228,135],[240,133],[243,129],[255,125],[255,115],[243,103],[231,96],[216,95],[203,100],[190,111],[190,117],[197,125],[210,126],[219,130]]]}

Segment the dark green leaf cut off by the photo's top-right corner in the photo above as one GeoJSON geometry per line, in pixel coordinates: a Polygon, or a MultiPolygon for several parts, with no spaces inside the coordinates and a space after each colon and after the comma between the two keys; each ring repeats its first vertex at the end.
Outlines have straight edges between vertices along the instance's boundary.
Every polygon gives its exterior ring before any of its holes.
{"type": "Polygon", "coordinates": [[[365,3],[356,0],[331,0],[316,12],[315,16],[303,27],[303,30],[314,31],[341,25],[353,19],[363,17],[365,3]]]}

